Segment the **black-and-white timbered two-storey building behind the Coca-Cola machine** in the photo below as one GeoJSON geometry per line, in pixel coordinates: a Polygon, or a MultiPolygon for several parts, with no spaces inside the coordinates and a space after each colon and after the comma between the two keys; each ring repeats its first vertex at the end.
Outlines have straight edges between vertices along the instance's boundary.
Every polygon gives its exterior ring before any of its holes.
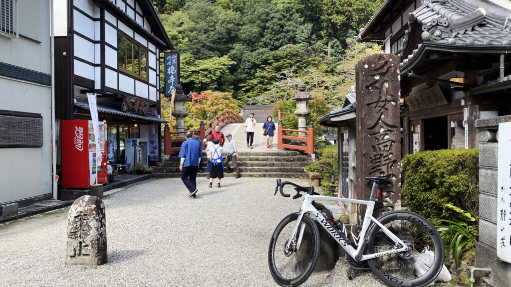
{"type": "Polygon", "coordinates": [[[159,55],[172,43],[151,1],[56,0],[55,14],[57,119],[90,119],[86,93],[97,93],[108,161],[125,162],[130,138],[147,139],[147,156],[157,160],[167,122],[159,116],[159,55]]]}

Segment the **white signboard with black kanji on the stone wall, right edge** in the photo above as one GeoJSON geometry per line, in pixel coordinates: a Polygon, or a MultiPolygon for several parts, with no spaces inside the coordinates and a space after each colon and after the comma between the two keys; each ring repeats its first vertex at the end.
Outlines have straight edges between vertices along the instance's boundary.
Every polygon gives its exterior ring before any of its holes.
{"type": "Polygon", "coordinates": [[[497,256],[511,263],[511,123],[499,125],[497,256]]]}

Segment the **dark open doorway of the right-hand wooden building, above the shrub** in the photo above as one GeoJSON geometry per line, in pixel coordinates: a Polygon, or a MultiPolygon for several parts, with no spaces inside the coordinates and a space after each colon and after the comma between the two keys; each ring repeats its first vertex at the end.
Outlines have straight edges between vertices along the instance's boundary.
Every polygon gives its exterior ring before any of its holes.
{"type": "Polygon", "coordinates": [[[426,151],[449,148],[447,116],[424,119],[424,149],[426,151]]]}

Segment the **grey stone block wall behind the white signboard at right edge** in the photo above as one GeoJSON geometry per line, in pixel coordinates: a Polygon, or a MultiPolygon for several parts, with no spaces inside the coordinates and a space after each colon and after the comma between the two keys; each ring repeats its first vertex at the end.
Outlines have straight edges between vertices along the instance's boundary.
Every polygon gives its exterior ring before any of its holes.
{"type": "Polygon", "coordinates": [[[479,242],[476,267],[492,268],[490,278],[497,286],[511,282],[511,264],[497,257],[498,128],[511,116],[478,119],[479,130],[479,242]]]}

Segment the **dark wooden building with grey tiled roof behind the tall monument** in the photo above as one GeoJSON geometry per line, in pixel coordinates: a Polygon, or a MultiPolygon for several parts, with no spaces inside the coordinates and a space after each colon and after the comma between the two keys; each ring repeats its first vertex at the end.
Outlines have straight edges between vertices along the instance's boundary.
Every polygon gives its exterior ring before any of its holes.
{"type": "Polygon", "coordinates": [[[478,148],[474,122],[509,114],[511,5],[388,0],[359,34],[401,56],[402,153],[478,148]]]}

